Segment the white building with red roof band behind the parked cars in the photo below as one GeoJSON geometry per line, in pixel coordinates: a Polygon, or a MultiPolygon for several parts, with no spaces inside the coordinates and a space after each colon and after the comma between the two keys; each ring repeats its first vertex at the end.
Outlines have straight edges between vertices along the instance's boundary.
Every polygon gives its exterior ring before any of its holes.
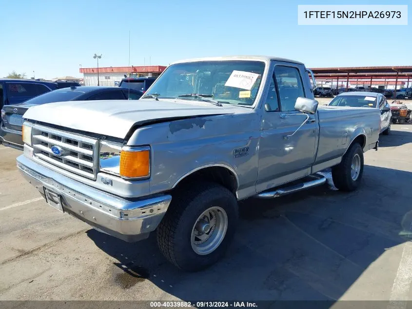
{"type": "Polygon", "coordinates": [[[110,66],[80,68],[83,73],[83,84],[85,86],[118,86],[119,82],[126,77],[157,77],[164,71],[166,66],[110,66]]]}

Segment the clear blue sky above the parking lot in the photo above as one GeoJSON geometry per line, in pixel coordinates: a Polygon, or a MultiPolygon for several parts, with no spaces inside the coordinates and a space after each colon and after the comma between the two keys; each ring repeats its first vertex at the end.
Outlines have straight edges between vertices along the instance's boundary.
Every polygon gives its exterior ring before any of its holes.
{"type": "MultiPolygon", "coordinates": [[[[408,4],[392,0],[390,4],[408,4]]],[[[82,67],[167,65],[179,59],[271,55],[308,67],[412,65],[408,26],[297,25],[298,4],[389,4],[295,0],[1,1],[0,77],[81,76],[82,67]],[[395,44],[391,42],[395,41],[395,44]]],[[[410,5],[411,7],[411,5],[410,5]]]]}

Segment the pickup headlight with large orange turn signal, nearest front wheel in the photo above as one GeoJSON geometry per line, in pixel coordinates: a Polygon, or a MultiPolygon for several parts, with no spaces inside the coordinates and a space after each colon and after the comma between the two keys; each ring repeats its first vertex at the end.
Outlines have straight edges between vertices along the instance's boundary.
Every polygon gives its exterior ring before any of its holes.
{"type": "Polygon", "coordinates": [[[100,143],[100,170],[125,179],[150,177],[150,148],[123,146],[103,141],[100,143]]]}

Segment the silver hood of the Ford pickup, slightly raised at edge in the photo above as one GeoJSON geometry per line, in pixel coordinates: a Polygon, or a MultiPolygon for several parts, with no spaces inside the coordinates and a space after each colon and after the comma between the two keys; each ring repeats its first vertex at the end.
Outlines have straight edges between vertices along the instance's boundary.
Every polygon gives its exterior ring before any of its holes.
{"type": "Polygon", "coordinates": [[[134,125],[245,111],[236,105],[203,101],[143,99],[68,101],[29,108],[23,118],[124,139],[134,125]]]}

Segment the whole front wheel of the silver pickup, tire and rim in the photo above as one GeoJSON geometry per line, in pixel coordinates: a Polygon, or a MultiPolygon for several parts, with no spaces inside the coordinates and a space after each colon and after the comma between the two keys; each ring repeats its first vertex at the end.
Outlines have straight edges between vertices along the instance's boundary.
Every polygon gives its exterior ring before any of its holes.
{"type": "Polygon", "coordinates": [[[209,182],[188,185],[172,194],[157,227],[158,247],[177,268],[206,268],[224,255],[237,218],[237,200],[227,188],[209,182]]]}

